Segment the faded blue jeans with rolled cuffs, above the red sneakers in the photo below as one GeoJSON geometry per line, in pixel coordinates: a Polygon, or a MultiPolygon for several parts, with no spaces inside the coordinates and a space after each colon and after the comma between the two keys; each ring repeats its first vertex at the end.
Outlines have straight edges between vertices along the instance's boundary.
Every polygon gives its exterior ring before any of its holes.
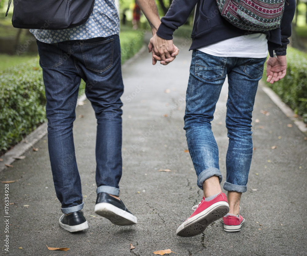
{"type": "Polygon", "coordinates": [[[226,111],[227,191],[245,192],[253,154],[252,111],[258,81],[266,58],[216,57],[193,50],[186,94],[185,131],[188,149],[197,175],[197,185],[211,176],[222,175],[219,150],[211,130],[211,121],[222,85],[228,77],[226,111]]]}

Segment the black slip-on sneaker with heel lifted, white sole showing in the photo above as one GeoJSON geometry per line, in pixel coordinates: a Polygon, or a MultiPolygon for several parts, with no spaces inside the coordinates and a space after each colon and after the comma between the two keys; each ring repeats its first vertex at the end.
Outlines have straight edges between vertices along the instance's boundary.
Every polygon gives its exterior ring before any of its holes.
{"type": "Polygon", "coordinates": [[[136,217],[126,208],[121,200],[107,193],[98,193],[95,204],[95,213],[109,219],[115,225],[133,225],[136,217]]]}

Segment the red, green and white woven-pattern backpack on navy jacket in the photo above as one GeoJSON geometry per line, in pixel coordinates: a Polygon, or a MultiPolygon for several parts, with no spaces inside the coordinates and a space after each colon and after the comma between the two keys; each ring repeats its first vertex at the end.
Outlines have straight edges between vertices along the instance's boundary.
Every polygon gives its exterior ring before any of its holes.
{"type": "Polygon", "coordinates": [[[285,0],[216,0],[221,15],[232,25],[251,31],[280,26],[285,0]]]}

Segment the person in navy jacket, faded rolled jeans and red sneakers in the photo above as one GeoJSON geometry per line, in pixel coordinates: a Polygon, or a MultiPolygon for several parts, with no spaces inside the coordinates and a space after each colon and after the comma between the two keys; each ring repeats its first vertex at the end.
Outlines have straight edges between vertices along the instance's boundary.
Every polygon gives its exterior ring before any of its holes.
{"type": "Polygon", "coordinates": [[[194,213],[177,229],[177,235],[202,233],[213,221],[223,217],[224,230],[240,231],[244,218],[239,203],[247,191],[247,179],[253,154],[252,110],[258,81],[267,60],[267,81],[274,83],[286,75],[286,48],[291,35],[295,1],[286,1],[280,28],[267,32],[241,30],[219,13],[215,0],[173,1],[149,50],[161,64],[174,54],[172,35],[183,25],[196,6],[192,31],[192,61],[186,94],[185,131],[188,149],[203,190],[194,213]],[[222,85],[228,78],[226,127],[229,145],[226,156],[226,181],[222,192],[219,152],[211,130],[211,121],[222,85]]]}

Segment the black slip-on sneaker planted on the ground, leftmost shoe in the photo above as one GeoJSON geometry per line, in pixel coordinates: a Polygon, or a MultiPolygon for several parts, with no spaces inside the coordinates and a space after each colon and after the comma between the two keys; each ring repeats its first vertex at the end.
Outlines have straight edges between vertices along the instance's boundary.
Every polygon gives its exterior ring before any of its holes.
{"type": "Polygon", "coordinates": [[[77,232],[88,228],[82,211],[75,211],[60,218],[60,226],[69,232],[77,232]]]}

